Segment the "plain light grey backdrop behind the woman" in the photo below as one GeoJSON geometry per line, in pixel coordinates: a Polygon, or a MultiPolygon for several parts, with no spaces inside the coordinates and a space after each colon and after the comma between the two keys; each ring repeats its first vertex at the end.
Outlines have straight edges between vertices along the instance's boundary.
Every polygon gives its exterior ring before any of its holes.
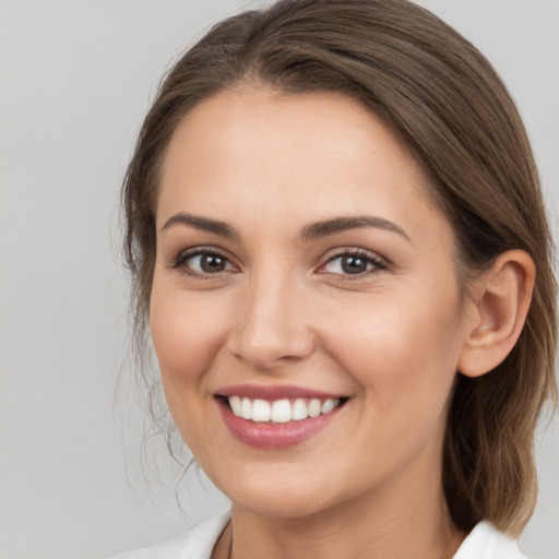
{"type": "MultiPolygon", "coordinates": [[[[423,0],[493,62],[559,201],[559,2],[423,0]]],[[[170,537],[226,501],[165,456],[140,467],[118,189],[171,58],[238,0],[0,0],[0,557],[88,559],[170,537]],[[124,381],[115,405],[117,377],[124,381]],[[160,480],[163,479],[163,480],[160,480]]],[[[162,451],[163,452],[163,451],[162,451]]],[[[559,423],[538,438],[523,539],[559,558],[559,423]]]]}

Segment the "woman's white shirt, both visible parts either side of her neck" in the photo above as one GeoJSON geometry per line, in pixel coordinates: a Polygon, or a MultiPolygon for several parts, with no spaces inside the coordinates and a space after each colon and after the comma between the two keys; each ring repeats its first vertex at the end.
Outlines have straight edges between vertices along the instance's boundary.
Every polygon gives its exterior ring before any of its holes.
{"type": "MultiPolygon", "coordinates": [[[[182,536],[114,559],[210,559],[212,550],[229,522],[225,512],[193,527],[182,536]]],[[[516,542],[480,522],[464,539],[453,559],[526,559],[516,542]]]]}

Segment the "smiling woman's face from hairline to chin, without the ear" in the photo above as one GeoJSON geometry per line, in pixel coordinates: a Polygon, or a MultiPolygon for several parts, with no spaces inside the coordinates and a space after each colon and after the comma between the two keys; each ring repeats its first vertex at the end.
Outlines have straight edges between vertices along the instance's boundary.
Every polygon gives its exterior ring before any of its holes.
{"type": "Polygon", "coordinates": [[[428,189],[336,94],[219,93],[176,130],[152,335],[175,421],[234,506],[300,518],[440,486],[465,328],[428,189]]]}

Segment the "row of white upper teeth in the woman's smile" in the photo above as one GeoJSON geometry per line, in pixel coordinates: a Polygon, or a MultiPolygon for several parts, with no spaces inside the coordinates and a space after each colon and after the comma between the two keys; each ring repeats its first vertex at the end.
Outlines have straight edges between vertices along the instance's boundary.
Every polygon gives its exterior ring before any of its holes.
{"type": "Polygon", "coordinates": [[[248,397],[229,396],[229,406],[237,417],[251,419],[254,423],[286,424],[288,421],[300,421],[308,417],[318,417],[321,414],[329,414],[340,405],[340,399],[329,397],[326,400],[302,397],[293,402],[284,399],[269,402],[266,400],[250,400],[248,397]]]}

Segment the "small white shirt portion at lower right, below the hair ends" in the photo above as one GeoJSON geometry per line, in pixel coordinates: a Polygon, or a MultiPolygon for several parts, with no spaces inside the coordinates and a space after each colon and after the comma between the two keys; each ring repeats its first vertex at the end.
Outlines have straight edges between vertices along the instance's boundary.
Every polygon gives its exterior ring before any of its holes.
{"type": "Polygon", "coordinates": [[[464,539],[454,559],[526,559],[526,556],[514,539],[488,522],[480,522],[464,539]]]}

